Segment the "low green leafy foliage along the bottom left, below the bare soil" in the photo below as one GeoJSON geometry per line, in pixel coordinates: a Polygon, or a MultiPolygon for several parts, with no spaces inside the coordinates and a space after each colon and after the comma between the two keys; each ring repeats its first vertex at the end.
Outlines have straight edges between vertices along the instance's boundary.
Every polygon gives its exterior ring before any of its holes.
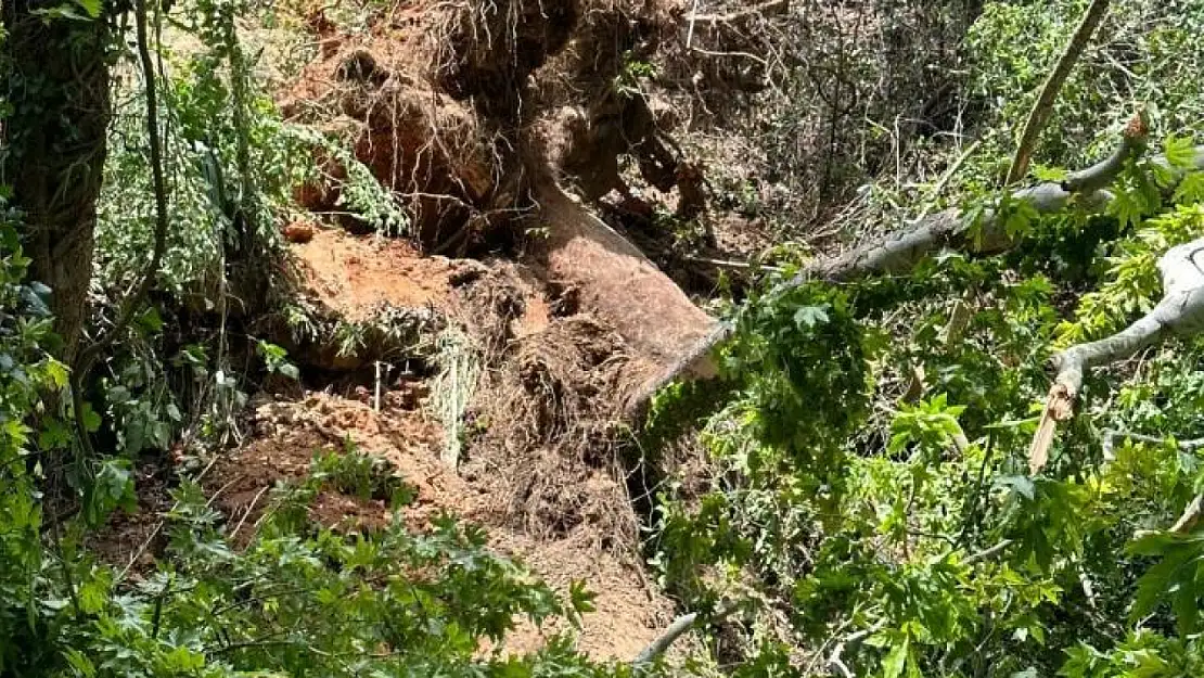
{"type": "MultiPolygon", "coordinates": [[[[98,502],[105,514],[128,496],[128,485],[113,481],[96,485],[113,488],[98,502]]],[[[399,509],[412,496],[378,460],[354,449],[319,456],[303,483],[278,489],[246,548],[230,543],[200,488],[183,483],[173,493],[167,553],[136,583],[93,562],[70,540],[49,558],[31,488],[23,487],[25,493],[0,497],[0,661],[7,673],[630,674],[621,665],[588,662],[565,636],[523,656],[479,652],[482,639],[503,641],[517,618],[576,620],[592,600],[580,585],[567,603],[559,600],[488,552],[480,530],[441,519],[414,533],[401,514],[354,536],[311,524],[308,506],[326,489],[365,497],[391,490],[399,509]]],[[[65,530],[78,533],[72,525],[65,530]]]]}

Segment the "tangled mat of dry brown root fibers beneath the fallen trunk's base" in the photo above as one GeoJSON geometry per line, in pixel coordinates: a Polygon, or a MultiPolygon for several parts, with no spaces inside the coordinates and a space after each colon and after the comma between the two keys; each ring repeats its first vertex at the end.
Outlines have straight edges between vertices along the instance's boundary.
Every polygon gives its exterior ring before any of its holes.
{"type": "Polygon", "coordinates": [[[631,548],[636,521],[618,449],[630,362],[622,340],[591,318],[554,319],[519,338],[478,393],[467,477],[495,473],[506,487],[495,511],[533,536],[589,531],[607,548],[631,548]]]}

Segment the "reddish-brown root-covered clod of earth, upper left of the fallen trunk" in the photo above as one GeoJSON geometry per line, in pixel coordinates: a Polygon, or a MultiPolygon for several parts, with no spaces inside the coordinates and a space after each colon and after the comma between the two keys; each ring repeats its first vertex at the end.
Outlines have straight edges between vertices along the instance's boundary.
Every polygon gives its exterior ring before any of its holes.
{"type": "MultiPolygon", "coordinates": [[[[470,220],[489,223],[502,151],[470,106],[418,77],[432,20],[346,37],[307,65],[278,104],[293,122],[350,135],[355,158],[403,200],[414,235],[435,249],[466,237],[470,220]]],[[[297,199],[330,211],[347,172],[329,158],[317,160],[323,178],[299,187],[297,199]]]]}

